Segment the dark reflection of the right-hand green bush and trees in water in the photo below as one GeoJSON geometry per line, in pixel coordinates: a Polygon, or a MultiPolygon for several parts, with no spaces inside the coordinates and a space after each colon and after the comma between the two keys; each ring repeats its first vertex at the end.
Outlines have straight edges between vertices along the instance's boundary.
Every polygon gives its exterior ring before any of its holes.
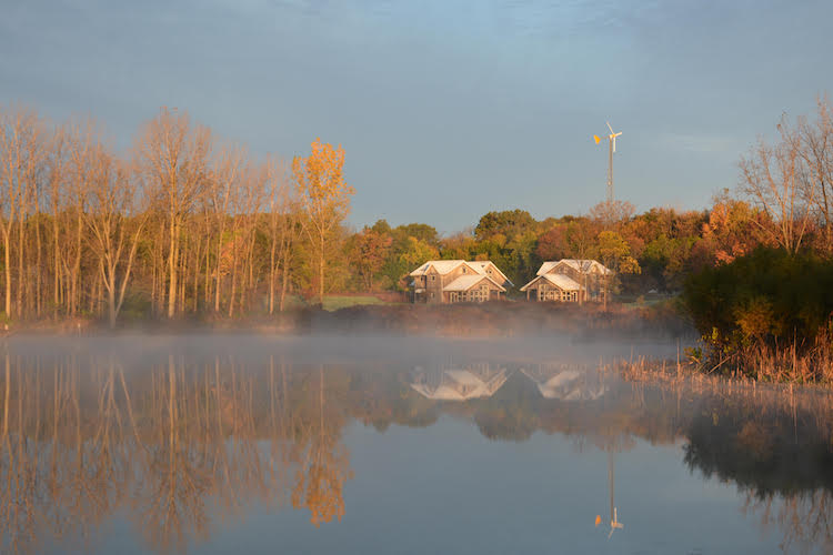
{"type": "Polygon", "coordinates": [[[833,402],[819,392],[706,395],[691,418],[685,463],[731,481],[743,509],[777,527],[785,551],[833,552],[833,402]]]}

